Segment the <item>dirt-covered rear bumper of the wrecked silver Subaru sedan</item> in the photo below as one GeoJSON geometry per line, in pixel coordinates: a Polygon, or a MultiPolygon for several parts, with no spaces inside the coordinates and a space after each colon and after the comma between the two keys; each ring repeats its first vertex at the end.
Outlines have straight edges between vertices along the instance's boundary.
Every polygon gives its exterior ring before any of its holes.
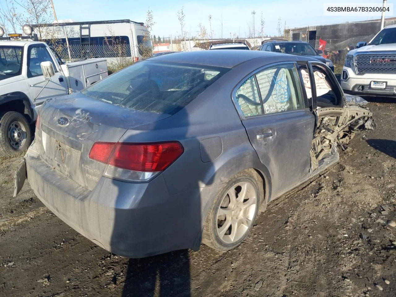
{"type": "Polygon", "coordinates": [[[169,194],[162,175],[148,183],[102,177],[89,191],[52,169],[34,151],[26,156],[27,179],[36,196],[62,221],[102,248],[141,258],[201,244],[213,187],[169,194]],[[201,202],[202,201],[202,202],[201,202]]]}

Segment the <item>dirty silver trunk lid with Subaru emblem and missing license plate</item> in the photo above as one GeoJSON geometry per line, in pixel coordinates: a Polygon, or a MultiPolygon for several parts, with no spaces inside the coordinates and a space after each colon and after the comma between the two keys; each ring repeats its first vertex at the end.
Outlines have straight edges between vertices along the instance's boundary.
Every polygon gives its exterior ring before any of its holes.
{"type": "Polygon", "coordinates": [[[96,141],[117,142],[126,130],[169,117],[126,109],[76,93],[40,109],[37,147],[54,170],[92,190],[106,165],[88,158],[96,141]]]}

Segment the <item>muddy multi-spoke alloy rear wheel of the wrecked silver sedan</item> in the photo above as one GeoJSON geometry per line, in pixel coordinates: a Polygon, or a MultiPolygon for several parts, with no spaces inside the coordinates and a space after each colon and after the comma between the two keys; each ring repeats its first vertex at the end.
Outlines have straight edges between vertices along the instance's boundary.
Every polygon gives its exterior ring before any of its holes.
{"type": "Polygon", "coordinates": [[[217,251],[238,246],[253,227],[264,197],[259,176],[250,170],[232,177],[219,191],[204,224],[202,242],[217,251]]]}

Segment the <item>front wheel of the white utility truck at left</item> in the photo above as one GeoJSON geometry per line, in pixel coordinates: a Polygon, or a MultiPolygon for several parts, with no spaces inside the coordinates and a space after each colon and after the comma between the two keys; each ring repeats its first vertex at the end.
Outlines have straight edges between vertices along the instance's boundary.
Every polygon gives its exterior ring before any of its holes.
{"type": "Polygon", "coordinates": [[[0,156],[12,157],[25,152],[32,141],[30,126],[23,114],[9,111],[0,118],[0,156]]]}

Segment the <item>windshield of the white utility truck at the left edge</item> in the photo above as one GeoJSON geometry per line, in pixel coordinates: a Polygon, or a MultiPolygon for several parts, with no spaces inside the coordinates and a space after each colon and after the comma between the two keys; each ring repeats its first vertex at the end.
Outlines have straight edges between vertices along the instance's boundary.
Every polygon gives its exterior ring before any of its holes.
{"type": "Polygon", "coordinates": [[[0,80],[21,74],[21,46],[0,46],[0,80]]]}

